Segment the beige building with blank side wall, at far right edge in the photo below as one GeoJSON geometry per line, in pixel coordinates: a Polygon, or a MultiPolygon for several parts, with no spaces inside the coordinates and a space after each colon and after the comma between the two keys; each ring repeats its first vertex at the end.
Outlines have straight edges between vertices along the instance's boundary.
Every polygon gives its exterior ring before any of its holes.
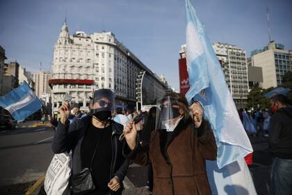
{"type": "Polygon", "coordinates": [[[251,62],[253,66],[262,68],[262,88],[277,87],[282,84],[283,75],[292,70],[292,51],[285,50],[284,45],[271,41],[263,49],[252,51],[251,62]]]}

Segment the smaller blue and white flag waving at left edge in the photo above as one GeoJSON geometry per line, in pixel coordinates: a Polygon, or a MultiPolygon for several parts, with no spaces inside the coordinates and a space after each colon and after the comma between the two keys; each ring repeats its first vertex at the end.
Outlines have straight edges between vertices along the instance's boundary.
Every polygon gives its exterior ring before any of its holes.
{"type": "Polygon", "coordinates": [[[18,88],[0,97],[0,107],[8,110],[19,123],[38,111],[42,107],[42,103],[24,81],[18,88]]]}

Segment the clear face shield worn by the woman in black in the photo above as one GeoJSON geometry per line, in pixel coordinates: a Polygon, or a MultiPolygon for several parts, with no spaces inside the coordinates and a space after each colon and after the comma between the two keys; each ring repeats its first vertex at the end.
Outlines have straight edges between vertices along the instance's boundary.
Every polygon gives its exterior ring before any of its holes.
{"type": "Polygon", "coordinates": [[[102,88],[95,91],[90,104],[90,114],[95,115],[101,111],[113,111],[115,108],[115,95],[111,89],[102,88]]]}

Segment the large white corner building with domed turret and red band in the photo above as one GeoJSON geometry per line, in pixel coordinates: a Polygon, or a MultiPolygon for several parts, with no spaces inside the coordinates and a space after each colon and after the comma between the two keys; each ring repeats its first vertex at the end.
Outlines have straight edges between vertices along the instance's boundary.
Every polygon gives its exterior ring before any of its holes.
{"type": "Polygon", "coordinates": [[[152,93],[154,97],[164,94],[166,88],[159,77],[124,47],[113,33],[87,35],[76,31],[70,36],[66,23],[54,45],[52,70],[49,84],[54,114],[58,112],[65,93],[72,95],[72,101],[79,103],[81,111],[89,111],[90,97],[98,88],[111,88],[117,105],[135,107],[136,78],[143,70],[146,71],[145,78],[149,79],[148,88],[157,90],[152,93]]]}

